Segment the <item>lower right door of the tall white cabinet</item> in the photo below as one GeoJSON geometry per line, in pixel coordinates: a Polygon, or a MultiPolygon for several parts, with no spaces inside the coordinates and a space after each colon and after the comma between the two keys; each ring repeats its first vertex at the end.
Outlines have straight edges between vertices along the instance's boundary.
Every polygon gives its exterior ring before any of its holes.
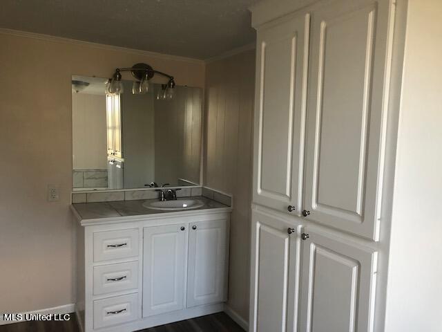
{"type": "Polygon", "coordinates": [[[313,232],[302,242],[300,331],[372,331],[376,252],[313,232]]]}

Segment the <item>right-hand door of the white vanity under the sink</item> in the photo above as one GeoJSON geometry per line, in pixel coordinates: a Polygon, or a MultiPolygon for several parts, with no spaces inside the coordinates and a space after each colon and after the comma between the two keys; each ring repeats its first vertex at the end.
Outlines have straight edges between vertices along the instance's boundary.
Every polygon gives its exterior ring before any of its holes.
{"type": "Polygon", "coordinates": [[[227,300],[228,221],[191,223],[187,306],[227,300]]]}

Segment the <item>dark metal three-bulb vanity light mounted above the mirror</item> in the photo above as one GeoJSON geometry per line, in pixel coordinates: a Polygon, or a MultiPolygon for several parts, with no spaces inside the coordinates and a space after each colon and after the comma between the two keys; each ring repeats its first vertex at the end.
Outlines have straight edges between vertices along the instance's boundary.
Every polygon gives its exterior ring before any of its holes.
{"type": "Polygon", "coordinates": [[[130,71],[135,77],[136,81],[133,82],[132,93],[136,94],[144,94],[149,90],[149,80],[155,74],[159,74],[169,78],[169,82],[167,84],[162,84],[162,97],[160,98],[160,93],[157,95],[157,99],[162,100],[171,100],[174,95],[175,81],[173,80],[173,76],[167,75],[166,73],[162,73],[161,71],[155,71],[148,64],[134,64],[131,68],[117,68],[115,69],[115,73],[113,77],[108,80],[108,84],[106,84],[106,93],[110,93],[113,95],[119,95],[123,93],[123,84],[122,84],[122,71],[130,71]]]}

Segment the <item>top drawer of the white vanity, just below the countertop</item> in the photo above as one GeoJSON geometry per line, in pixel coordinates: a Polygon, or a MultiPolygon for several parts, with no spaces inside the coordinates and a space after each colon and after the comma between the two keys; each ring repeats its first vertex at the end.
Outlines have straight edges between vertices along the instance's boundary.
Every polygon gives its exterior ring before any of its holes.
{"type": "Polygon", "coordinates": [[[94,233],[94,261],[138,256],[138,229],[94,233]]]}

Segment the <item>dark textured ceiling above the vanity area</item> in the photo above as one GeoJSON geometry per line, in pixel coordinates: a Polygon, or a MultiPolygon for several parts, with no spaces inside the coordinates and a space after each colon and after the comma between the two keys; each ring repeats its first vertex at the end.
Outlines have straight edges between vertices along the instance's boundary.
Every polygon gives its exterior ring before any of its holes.
{"type": "Polygon", "coordinates": [[[258,0],[1,0],[0,28],[207,59],[255,40],[258,0]]]}

